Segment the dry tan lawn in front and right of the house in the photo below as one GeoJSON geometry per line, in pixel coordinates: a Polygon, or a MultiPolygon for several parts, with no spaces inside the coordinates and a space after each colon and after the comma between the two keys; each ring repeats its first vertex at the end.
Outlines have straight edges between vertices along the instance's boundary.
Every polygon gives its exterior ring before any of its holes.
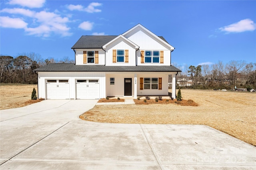
{"type": "Polygon", "coordinates": [[[181,90],[181,93],[184,100],[191,99],[199,106],[97,105],[80,118],[106,123],[208,125],[256,146],[256,93],[211,90],[181,90]]]}

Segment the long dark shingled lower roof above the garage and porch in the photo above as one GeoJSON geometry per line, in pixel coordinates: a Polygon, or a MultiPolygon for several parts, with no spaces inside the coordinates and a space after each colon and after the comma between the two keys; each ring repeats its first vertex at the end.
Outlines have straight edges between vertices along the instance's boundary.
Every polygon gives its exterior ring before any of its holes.
{"type": "Polygon", "coordinates": [[[181,72],[174,66],[104,66],[104,65],[75,65],[67,63],[52,63],[36,68],[34,72],[41,71],[102,71],[102,72],[181,72]]]}

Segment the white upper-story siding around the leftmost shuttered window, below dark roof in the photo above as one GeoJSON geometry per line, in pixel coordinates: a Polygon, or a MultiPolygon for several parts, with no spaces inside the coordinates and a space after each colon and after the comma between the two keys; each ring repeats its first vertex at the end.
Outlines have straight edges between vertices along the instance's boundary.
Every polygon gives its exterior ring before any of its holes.
{"type": "MultiPolygon", "coordinates": [[[[99,54],[99,65],[105,64],[105,51],[102,49],[75,49],[76,51],[76,65],[84,65],[84,51],[98,51],[99,54]]],[[[94,59],[95,62],[95,59],[94,59]]],[[[94,63],[89,63],[94,64],[94,63]]]]}

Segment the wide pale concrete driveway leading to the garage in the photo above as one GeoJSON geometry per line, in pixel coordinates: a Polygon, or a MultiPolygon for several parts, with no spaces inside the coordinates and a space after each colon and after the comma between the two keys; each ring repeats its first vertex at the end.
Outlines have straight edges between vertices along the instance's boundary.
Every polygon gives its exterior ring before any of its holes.
{"type": "Polygon", "coordinates": [[[0,112],[0,169],[256,169],[256,148],[204,125],[82,121],[97,100],[0,112]]]}

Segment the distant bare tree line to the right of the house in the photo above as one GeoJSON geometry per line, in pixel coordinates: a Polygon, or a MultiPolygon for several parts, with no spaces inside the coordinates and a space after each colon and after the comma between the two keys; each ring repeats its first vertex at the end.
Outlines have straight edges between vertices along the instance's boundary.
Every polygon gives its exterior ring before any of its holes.
{"type": "MultiPolygon", "coordinates": [[[[178,67],[178,66],[177,66],[178,67]]],[[[171,81],[170,81],[171,82],[171,81]]],[[[212,65],[186,66],[176,76],[177,86],[193,89],[256,89],[256,63],[218,61],[212,65]]]]}

